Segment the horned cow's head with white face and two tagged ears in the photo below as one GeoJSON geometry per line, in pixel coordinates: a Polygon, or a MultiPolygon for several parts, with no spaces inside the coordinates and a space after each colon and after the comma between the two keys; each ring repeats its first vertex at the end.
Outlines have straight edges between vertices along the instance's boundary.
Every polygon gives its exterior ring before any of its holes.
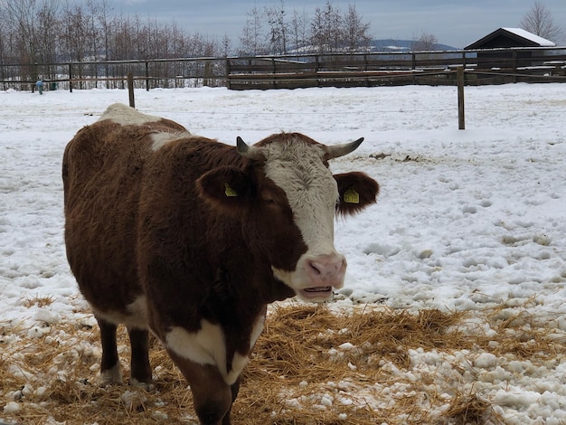
{"type": "Polygon", "coordinates": [[[225,212],[244,212],[244,233],[259,244],[277,279],[304,300],[324,301],[344,285],[346,260],[334,246],[335,214],[356,213],[379,193],[379,184],[363,173],[332,175],[328,160],[362,142],[325,146],[282,133],[248,146],[238,137],[248,166],[211,170],[199,180],[201,193],[225,212]]]}

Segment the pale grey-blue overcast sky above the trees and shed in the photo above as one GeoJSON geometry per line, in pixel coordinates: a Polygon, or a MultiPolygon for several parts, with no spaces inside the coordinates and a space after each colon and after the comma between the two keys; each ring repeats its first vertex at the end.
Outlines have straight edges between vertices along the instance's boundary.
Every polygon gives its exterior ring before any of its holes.
{"type": "MultiPolygon", "coordinates": [[[[175,23],[188,33],[201,33],[222,39],[228,35],[233,45],[240,44],[241,30],[254,6],[279,5],[279,0],[108,0],[114,11],[138,14],[164,24],[175,23]]],[[[335,8],[345,13],[355,5],[364,23],[371,26],[375,39],[413,40],[430,33],[439,42],[462,48],[476,42],[499,27],[518,27],[534,0],[333,0],[335,8]]],[[[566,0],[541,0],[551,13],[554,24],[566,32],[566,0]]],[[[310,19],[325,0],[285,0],[288,16],[294,10],[310,19]]],[[[563,45],[563,41],[555,41],[563,45]]]]}

